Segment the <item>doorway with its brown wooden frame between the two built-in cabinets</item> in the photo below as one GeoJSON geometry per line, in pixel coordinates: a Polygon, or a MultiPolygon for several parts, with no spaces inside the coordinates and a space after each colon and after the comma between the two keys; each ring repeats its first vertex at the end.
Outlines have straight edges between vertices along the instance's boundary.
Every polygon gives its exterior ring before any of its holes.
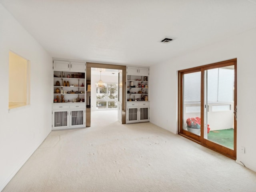
{"type": "Polygon", "coordinates": [[[86,127],[90,127],[92,121],[125,123],[122,118],[122,113],[125,117],[125,102],[122,102],[125,89],[122,87],[125,87],[126,75],[120,75],[122,73],[126,74],[126,66],[86,64],[86,127]]]}

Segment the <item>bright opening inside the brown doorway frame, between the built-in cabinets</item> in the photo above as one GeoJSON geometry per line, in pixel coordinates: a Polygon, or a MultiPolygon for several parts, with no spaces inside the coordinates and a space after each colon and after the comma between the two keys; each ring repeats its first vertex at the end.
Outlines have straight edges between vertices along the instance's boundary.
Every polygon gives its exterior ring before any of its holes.
{"type": "Polygon", "coordinates": [[[91,68],[90,106],[92,125],[118,120],[118,70],[91,68]]]}

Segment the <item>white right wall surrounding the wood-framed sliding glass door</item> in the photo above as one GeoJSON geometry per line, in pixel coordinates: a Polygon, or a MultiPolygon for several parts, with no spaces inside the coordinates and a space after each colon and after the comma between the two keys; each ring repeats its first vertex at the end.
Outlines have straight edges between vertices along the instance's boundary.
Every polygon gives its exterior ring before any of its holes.
{"type": "MultiPolygon", "coordinates": [[[[237,160],[256,171],[256,28],[150,67],[150,122],[177,133],[178,70],[237,58],[237,160]],[[245,154],[240,152],[245,147],[245,154]]],[[[178,39],[177,39],[178,40],[178,39]]],[[[171,46],[171,45],[170,45],[171,46]]]]}

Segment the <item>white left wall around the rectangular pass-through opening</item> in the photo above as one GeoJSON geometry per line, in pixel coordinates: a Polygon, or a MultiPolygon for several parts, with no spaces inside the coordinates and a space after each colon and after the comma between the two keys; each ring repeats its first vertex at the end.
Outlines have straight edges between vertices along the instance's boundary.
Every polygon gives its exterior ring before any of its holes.
{"type": "Polygon", "coordinates": [[[52,103],[52,58],[2,4],[0,69],[1,191],[50,133],[52,103]],[[8,110],[9,50],[31,62],[31,104],[11,111],[8,110]]]}

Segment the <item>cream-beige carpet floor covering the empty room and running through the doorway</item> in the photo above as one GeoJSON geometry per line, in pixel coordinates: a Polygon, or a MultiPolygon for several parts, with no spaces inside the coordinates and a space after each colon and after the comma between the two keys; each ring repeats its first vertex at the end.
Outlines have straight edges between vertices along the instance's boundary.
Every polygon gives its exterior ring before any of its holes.
{"type": "Polygon", "coordinates": [[[3,192],[255,192],[256,173],[149,122],[111,112],[50,133],[3,192]]]}

